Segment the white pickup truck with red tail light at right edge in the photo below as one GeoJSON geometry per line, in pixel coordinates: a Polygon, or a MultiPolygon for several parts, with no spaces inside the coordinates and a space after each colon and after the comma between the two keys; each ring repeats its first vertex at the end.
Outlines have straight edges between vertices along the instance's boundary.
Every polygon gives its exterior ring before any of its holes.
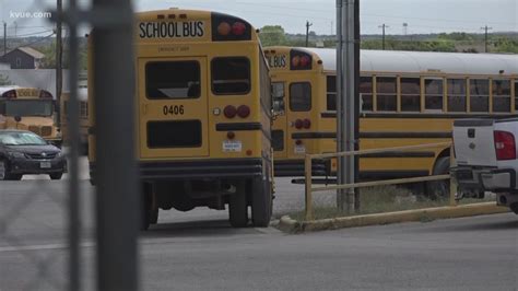
{"type": "Polygon", "coordinates": [[[483,198],[496,194],[496,203],[518,214],[518,118],[461,119],[454,123],[457,165],[451,173],[457,196],[483,198]]]}

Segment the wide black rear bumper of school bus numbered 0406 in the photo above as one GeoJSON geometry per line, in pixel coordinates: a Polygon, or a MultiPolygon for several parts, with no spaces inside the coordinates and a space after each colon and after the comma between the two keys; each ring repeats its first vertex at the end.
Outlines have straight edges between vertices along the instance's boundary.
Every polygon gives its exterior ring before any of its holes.
{"type": "MultiPolygon", "coordinates": [[[[138,165],[142,182],[252,178],[263,173],[262,159],[141,161],[138,165]]],[[[91,179],[95,173],[96,164],[90,163],[91,179]]]]}

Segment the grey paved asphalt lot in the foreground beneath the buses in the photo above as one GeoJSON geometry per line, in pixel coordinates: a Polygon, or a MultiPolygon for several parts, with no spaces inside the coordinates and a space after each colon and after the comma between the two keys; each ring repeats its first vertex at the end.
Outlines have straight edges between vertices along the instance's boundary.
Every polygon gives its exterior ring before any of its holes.
{"type": "MultiPolygon", "coordinates": [[[[82,277],[92,290],[93,188],[84,181],[81,189],[82,277]]],[[[276,216],[302,206],[301,189],[278,181],[276,216]]],[[[1,182],[1,291],[66,286],[63,201],[66,182],[1,182]]],[[[226,219],[225,211],[161,211],[140,238],[142,290],[518,290],[510,213],[302,235],[236,230],[226,219]]]]}

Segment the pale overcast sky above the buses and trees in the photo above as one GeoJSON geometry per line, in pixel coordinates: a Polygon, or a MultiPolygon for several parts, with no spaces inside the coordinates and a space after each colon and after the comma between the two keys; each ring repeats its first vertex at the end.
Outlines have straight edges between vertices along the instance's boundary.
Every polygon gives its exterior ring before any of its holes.
{"type": "MultiPolygon", "coordinates": [[[[63,0],[68,2],[68,0],[63,0]]],[[[90,1],[81,0],[87,4],[90,1]]],[[[282,25],[289,33],[305,33],[306,21],[318,34],[335,32],[335,0],[133,0],[138,11],[170,7],[204,9],[242,16],[256,27],[282,25]]],[[[13,18],[11,12],[40,12],[55,8],[56,0],[0,0],[0,15],[8,23],[8,35],[48,34],[51,25],[42,19],[13,18]],[[49,9],[50,8],[50,9],[49,9]]],[[[362,0],[362,34],[469,32],[518,32],[518,0],[362,0]]]]}

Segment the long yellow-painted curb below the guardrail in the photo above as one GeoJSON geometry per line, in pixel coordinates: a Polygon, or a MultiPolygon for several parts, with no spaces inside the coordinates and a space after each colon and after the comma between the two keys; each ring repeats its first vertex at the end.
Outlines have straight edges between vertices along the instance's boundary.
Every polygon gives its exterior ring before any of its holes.
{"type": "Polygon", "coordinates": [[[303,233],[345,228],[380,225],[411,221],[431,221],[435,219],[451,219],[484,214],[506,213],[509,209],[496,206],[495,202],[448,206],[416,210],[404,210],[387,213],[364,214],[315,221],[296,221],[289,216],[281,218],[279,229],[287,233],[303,233]]]}

